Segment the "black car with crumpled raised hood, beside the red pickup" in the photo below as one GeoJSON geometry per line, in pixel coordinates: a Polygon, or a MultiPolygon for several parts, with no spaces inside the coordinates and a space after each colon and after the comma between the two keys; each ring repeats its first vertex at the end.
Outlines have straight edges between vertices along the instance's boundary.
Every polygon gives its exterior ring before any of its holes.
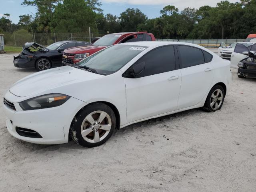
{"type": "Polygon", "coordinates": [[[14,66],[18,68],[36,68],[38,71],[62,66],[62,54],[65,49],[91,45],[81,41],[59,41],[47,47],[38,43],[25,43],[19,56],[14,56],[14,66]]]}

